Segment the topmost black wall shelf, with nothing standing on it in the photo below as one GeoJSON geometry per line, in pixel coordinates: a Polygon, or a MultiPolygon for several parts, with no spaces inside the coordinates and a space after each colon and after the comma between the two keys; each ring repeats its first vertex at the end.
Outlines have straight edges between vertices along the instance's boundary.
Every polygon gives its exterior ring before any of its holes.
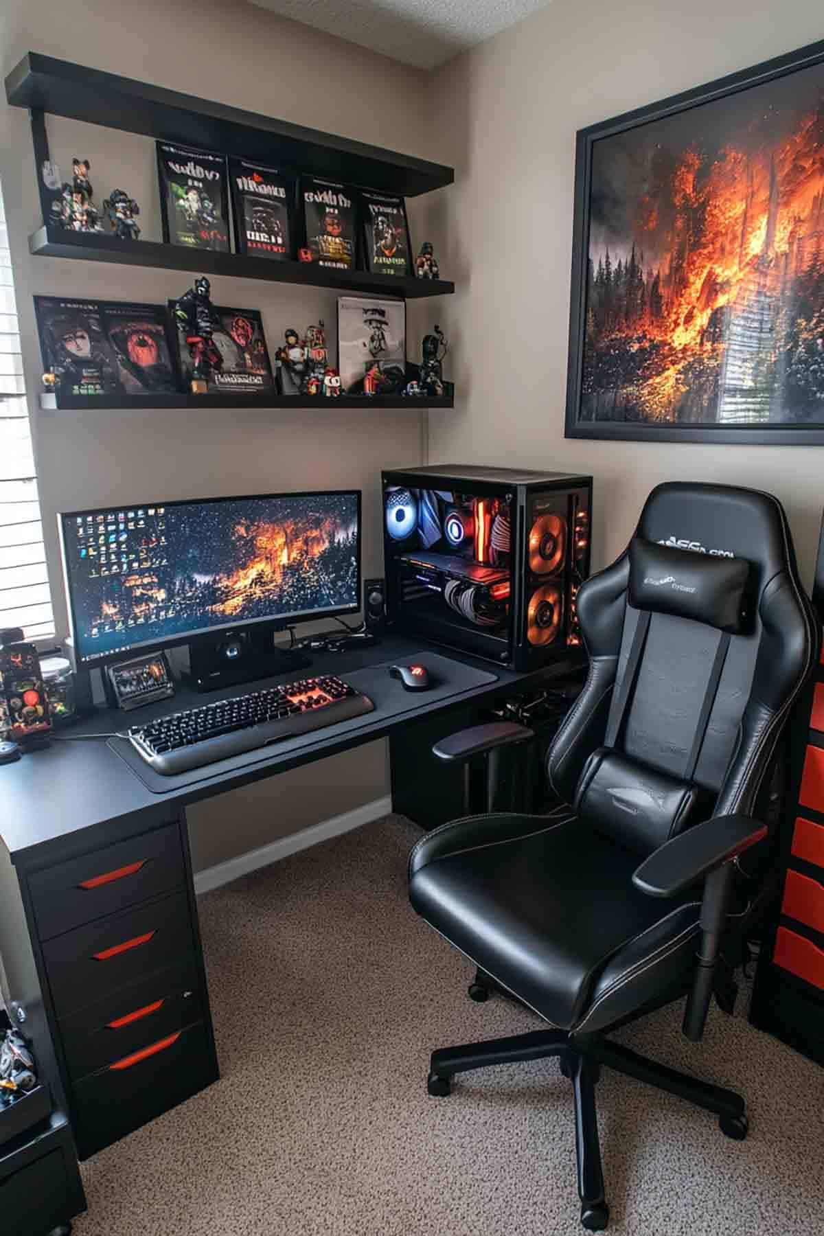
{"type": "Polygon", "coordinates": [[[28,52],[11,70],[6,78],[6,99],[15,108],[33,108],[128,133],[201,146],[406,198],[444,188],[455,179],[455,169],[441,163],[103,73],[40,52],[28,52]]]}

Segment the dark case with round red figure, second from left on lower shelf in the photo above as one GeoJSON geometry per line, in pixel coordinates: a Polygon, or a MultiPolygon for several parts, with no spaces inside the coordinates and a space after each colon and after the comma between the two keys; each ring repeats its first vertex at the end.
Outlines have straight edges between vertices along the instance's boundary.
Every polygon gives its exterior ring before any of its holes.
{"type": "Polygon", "coordinates": [[[126,394],[177,391],[169,320],[163,305],[101,303],[103,326],[126,394]]]}

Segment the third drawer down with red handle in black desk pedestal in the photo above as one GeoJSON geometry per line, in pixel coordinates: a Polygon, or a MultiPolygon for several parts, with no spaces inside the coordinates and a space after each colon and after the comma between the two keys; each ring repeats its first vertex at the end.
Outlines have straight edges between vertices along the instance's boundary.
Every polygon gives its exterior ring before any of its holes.
{"type": "Polygon", "coordinates": [[[199,1017],[203,1001],[191,955],[183,965],[159,970],[63,1017],[61,1036],[69,1074],[82,1078],[94,1073],[199,1017]]]}

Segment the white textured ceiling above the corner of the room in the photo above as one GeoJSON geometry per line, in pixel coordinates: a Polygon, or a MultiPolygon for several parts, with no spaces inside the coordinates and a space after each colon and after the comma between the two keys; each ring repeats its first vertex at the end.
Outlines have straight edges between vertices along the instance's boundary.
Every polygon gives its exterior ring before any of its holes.
{"type": "Polygon", "coordinates": [[[306,26],[432,69],[551,0],[250,0],[306,26]]]}

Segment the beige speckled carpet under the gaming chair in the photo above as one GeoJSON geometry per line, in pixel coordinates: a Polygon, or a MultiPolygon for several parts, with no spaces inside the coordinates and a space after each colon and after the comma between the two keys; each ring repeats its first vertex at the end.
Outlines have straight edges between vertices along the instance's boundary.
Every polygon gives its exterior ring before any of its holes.
{"type": "MultiPolygon", "coordinates": [[[[555,1062],[425,1093],[434,1047],[536,1028],[466,996],[468,963],[409,908],[418,829],[389,817],[200,901],[222,1079],[84,1167],[77,1236],[579,1234],[571,1088],[555,1062]]],[[[619,1036],[741,1089],[746,1142],[604,1072],[610,1231],[809,1236],[824,1073],[717,1010],[702,1046],[671,1007],[619,1036]]]]}

